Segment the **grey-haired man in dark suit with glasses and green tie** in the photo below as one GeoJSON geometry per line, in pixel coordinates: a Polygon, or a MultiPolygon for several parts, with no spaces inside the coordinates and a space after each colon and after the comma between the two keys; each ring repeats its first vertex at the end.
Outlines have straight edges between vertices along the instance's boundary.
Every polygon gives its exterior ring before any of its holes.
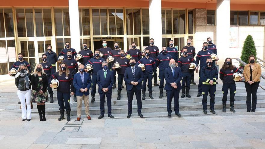
{"type": "Polygon", "coordinates": [[[98,70],[97,74],[97,84],[98,84],[98,93],[100,98],[100,116],[98,119],[104,117],[105,108],[104,101],[105,96],[107,96],[107,104],[108,104],[108,117],[114,118],[111,115],[111,93],[112,93],[112,85],[113,85],[113,73],[108,69],[108,62],[102,62],[103,69],[98,70]]]}

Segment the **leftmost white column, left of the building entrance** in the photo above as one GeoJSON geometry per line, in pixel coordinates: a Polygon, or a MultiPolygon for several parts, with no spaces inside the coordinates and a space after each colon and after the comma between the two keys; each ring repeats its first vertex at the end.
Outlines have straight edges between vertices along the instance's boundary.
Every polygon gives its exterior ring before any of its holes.
{"type": "Polygon", "coordinates": [[[80,28],[79,28],[79,11],[78,0],[69,0],[69,17],[70,17],[70,35],[71,35],[71,48],[76,52],[80,49],[80,28]]]}

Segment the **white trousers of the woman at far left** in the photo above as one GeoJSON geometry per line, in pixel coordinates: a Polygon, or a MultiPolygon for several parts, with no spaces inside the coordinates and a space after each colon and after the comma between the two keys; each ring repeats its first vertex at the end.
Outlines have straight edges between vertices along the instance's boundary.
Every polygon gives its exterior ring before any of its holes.
{"type": "Polygon", "coordinates": [[[24,120],[31,119],[31,104],[30,104],[31,95],[32,95],[31,89],[27,91],[17,90],[17,96],[21,102],[21,115],[22,115],[22,119],[24,120]],[[25,99],[26,99],[26,102],[25,102],[25,99]],[[26,104],[27,104],[27,109],[26,109],[26,104]]]}

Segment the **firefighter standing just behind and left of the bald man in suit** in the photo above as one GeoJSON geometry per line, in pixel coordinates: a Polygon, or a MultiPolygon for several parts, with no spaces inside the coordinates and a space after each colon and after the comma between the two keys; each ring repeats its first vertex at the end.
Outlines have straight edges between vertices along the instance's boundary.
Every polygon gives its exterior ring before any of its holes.
{"type": "MultiPolygon", "coordinates": [[[[165,80],[165,69],[169,67],[169,61],[172,59],[171,55],[167,53],[167,47],[162,47],[162,52],[157,56],[156,59],[156,66],[159,69],[159,91],[160,95],[159,98],[163,98],[163,88],[164,88],[164,80],[165,80]]],[[[167,96],[167,94],[166,94],[167,96]]]]}

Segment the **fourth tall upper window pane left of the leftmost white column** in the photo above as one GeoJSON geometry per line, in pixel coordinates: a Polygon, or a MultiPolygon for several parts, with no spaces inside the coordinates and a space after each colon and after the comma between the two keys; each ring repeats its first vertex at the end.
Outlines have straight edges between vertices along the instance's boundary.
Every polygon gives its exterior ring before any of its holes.
{"type": "Polygon", "coordinates": [[[43,36],[42,9],[35,9],[36,36],[43,36]]]}

